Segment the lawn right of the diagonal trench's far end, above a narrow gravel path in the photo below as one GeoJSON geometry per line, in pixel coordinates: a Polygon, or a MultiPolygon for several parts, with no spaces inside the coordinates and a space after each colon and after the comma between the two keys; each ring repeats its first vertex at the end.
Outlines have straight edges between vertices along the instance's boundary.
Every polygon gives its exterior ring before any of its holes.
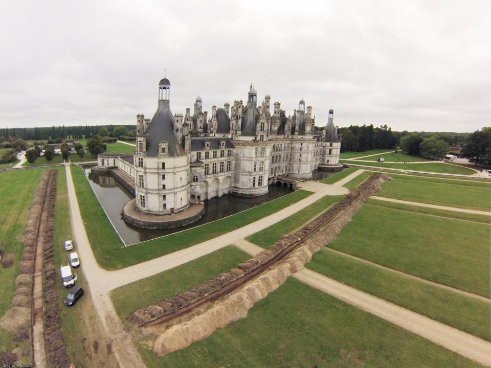
{"type": "Polygon", "coordinates": [[[462,185],[460,181],[435,182],[414,177],[385,181],[376,195],[478,211],[489,211],[491,202],[491,190],[485,183],[468,181],[462,185]]]}

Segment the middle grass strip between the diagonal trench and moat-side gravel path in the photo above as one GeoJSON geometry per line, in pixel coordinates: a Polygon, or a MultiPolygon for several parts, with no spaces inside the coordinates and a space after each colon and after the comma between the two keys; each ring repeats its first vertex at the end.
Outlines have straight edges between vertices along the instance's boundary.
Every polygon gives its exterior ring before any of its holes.
{"type": "Polygon", "coordinates": [[[310,204],[296,214],[289,216],[274,225],[266,227],[246,239],[263,248],[269,248],[275,244],[283,235],[294,232],[303,226],[304,223],[317,217],[321,212],[329,209],[333,204],[340,202],[344,196],[325,196],[310,204]]]}

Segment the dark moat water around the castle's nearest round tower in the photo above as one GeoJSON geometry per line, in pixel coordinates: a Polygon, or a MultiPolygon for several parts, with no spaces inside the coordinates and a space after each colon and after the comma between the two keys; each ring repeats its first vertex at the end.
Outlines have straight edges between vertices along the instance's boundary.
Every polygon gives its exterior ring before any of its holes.
{"type": "Polygon", "coordinates": [[[218,220],[222,217],[248,210],[258,204],[268,202],[292,192],[292,189],[270,186],[268,193],[260,197],[237,197],[228,194],[218,198],[208,199],[204,201],[205,214],[198,221],[187,226],[156,230],[144,229],[124,222],[122,215],[123,205],[133,197],[114,179],[114,177],[104,174],[93,174],[91,173],[91,169],[85,169],[85,175],[89,178],[89,182],[94,189],[94,192],[97,194],[104,211],[127,245],[176,233],[207,222],[218,220]]]}

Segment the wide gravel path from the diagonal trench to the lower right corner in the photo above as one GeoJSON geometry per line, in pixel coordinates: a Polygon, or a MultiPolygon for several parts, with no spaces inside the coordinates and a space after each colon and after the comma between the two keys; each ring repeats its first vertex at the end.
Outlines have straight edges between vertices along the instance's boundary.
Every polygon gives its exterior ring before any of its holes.
{"type": "Polygon", "coordinates": [[[297,280],[332,295],[345,303],[383,318],[405,330],[422,336],[434,343],[491,366],[491,343],[453,327],[439,323],[381,298],[357,290],[317,272],[303,269],[293,275],[297,280]]]}

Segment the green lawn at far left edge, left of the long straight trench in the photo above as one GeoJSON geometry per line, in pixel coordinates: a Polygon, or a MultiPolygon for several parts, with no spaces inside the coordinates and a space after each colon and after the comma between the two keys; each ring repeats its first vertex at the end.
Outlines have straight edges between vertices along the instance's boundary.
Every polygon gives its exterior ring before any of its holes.
{"type": "MultiPolygon", "coordinates": [[[[0,249],[3,257],[14,254],[15,262],[9,268],[0,270],[0,317],[12,307],[14,296],[14,280],[19,273],[18,262],[24,245],[19,241],[24,231],[32,196],[37,188],[43,170],[9,171],[0,173],[0,249]]],[[[17,345],[21,349],[31,350],[29,340],[16,343],[12,341],[13,334],[0,328],[0,351],[8,351],[17,345]]],[[[26,361],[27,362],[27,361],[26,361]]]]}

